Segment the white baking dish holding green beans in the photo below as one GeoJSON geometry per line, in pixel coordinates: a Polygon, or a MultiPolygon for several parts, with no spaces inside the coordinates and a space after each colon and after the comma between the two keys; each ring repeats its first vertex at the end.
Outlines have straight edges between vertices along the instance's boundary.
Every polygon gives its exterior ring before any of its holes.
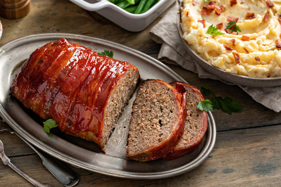
{"type": "Polygon", "coordinates": [[[96,11],[98,14],[114,22],[120,27],[133,32],[145,29],[160,14],[162,14],[175,0],[160,0],[143,14],[132,14],[107,0],[70,0],[78,6],[96,11]]]}

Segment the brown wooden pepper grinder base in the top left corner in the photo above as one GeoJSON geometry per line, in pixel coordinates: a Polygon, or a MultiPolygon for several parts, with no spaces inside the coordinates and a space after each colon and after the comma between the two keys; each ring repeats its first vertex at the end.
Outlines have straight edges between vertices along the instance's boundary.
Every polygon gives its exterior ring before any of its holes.
{"type": "Polygon", "coordinates": [[[0,16],[18,19],[28,14],[31,0],[0,0],[0,16]]]}

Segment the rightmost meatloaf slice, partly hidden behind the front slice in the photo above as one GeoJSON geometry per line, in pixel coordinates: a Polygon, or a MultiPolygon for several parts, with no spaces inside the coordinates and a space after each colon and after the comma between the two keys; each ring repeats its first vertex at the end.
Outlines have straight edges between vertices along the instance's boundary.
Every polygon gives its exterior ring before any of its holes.
{"type": "MultiPolygon", "coordinates": [[[[171,82],[175,85],[178,82],[171,82]]],[[[202,141],[208,128],[208,117],[206,111],[197,109],[199,101],[203,101],[204,97],[201,92],[190,84],[180,82],[186,87],[186,121],[184,126],[184,134],[181,136],[179,143],[174,149],[162,157],[164,160],[172,160],[177,157],[184,156],[186,153],[194,150],[202,141]]]]}

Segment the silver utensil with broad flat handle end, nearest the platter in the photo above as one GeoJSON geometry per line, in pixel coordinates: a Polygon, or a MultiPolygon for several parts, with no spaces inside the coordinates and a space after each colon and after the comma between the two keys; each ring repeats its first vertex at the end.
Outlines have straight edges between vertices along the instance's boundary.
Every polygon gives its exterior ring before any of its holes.
{"type": "MultiPolygon", "coordinates": [[[[42,159],[43,165],[60,181],[64,186],[71,187],[75,186],[79,177],[76,173],[65,167],[59,160],[54,157],[44,153],[43,151],[32,146],[28,141],[23,139],[15,131],[13,131],[7,124],[0,122],[0,132],[9,131],[12,134],[16,134],[20,137],[25,143],[27,143],[42,159]]],[[[4,162],[5,163],[5,162],[4,162]]]]}

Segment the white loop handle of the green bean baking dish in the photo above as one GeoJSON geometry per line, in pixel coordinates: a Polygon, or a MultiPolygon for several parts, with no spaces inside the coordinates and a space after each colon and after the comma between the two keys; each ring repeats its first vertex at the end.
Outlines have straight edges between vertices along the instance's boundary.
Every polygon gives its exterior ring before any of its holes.
{"type": "Polygon", "coordinates": [[[88,11],[97,11],[104,7],[108,7],[112,4],[107,0],[101,0],[97,3],[88,3],[84,0],[69,0],[69,1],[73,2],[74,4],[80,6],[88,11]]]}

